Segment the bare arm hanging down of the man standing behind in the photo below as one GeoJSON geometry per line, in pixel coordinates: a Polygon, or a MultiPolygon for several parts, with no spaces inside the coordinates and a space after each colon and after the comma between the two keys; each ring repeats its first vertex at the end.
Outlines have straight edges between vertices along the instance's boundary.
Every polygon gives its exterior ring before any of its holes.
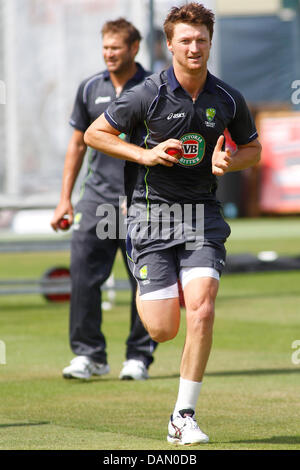
{"type": "Polygon", "coordinates": [[[72,224],[73,222],[71,197],[85,152],[84,132],[75,129],[65,156],[60,201],[51,220],[51,226],[54,230],[58,229],[59,220],[66,214],[69,217],[69,223],[72,224]]]}

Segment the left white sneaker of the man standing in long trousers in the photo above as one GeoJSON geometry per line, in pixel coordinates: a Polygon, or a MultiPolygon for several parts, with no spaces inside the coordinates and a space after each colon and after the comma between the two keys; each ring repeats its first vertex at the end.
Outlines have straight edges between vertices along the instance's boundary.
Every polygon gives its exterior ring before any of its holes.
{"type": "Polygon", "coordinates": [[[87,356],[76,356],[62,373],[65,379],[89,379],[92,375],[108,374],[109,365],[94,362],[87,356]]]}

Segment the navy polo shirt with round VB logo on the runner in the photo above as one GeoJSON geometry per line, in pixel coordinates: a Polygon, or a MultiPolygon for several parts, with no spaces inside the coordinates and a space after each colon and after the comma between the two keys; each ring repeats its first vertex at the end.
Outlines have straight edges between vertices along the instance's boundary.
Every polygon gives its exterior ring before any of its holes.
{"type": "MultiPolygon", "coordinates": [[[[184,154],[173,167],[126,163],[134,185],[133,202],[170,203],[215,201],[217,179],[211,158],[227,128],[237,145],[257,138],[253,118],[241,93],[208,72],[194,102],[171,66],[131,88],[105,111],[108,122],[130,142],[153,148],[169,138],[183,143],[184,154]]],[[[131,200],[131,192],[128,197],[131,200]]]]}

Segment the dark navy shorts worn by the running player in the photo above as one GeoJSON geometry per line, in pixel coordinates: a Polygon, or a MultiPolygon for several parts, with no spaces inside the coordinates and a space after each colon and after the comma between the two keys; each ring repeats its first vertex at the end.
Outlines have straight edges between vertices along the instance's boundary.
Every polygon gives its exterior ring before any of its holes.
{"type": "Polygon", "coordinates": [[[177,282],[182,268],[213,268],[221,275],[226,262],[225,242],[230,227],[217,205],[205,206],[203,238],[196,249],[187,249],[186,240],[132,238],[129,225],[127,256],[140,295],[164,289],[177,282]]]}

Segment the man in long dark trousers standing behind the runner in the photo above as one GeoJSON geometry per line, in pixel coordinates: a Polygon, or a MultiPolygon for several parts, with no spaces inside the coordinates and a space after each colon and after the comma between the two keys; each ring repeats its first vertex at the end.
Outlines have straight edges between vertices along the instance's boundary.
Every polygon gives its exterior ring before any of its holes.
{"type": "MultiPolygon", "coordinates": [[[[111,273],[118,248],[121,248],[128,269],[125,240],[117,238],[120,227],[115,227],[116,239],[100,240],[96,234],[96,226],[101,223],[100,217],[96,216],[99,205],[113,205],[116,220],[119,220],[119,197],[124,194],[124,163],[91,150],[75,215],[71,202],[87,149],[83,139],[85,130],[117,96],[149,75],[135,62],[141,35],[131,23],[122,18],[107,22],[102,28],[102,40],[107,70],[87,78],[79,86],[70,119],[74,132],[65,157],[61,198],[51,221],[54,230],[58,229],[60,219],[66,214],[70,223],[74,221],[70,344],[76,357],[63,370],[65,378],[88,379],[93,374],[109,372],[106,340],[101,332],[101,286],[111,273]]],[[[130,334],[120,378],[143,380],[148,378],[147,369],[153,361],[155,343],[137,314],[136,281],[129,270],[128,273],[132,289],[130,334]]]]}

